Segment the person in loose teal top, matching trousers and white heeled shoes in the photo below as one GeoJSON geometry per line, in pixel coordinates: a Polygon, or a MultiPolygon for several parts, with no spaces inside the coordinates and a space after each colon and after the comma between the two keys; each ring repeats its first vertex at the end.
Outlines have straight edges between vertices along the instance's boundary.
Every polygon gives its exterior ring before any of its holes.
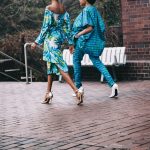
{"type": "Polygon", "coordinates": [[[75,50],[73,53],[74,78],[78,89],[84,91],[81,83],[81,60],[84,54],[88,54],[93,65],[104,75],[108,85],[112,88],[110,98],[118,95],[118,85],[114,82],[107,68],[100,61],[105,46],[104,21],[93,4],[96,0],[79,0],[84,7],[73,24],[73,37],[75,39],[75,50]]]}

